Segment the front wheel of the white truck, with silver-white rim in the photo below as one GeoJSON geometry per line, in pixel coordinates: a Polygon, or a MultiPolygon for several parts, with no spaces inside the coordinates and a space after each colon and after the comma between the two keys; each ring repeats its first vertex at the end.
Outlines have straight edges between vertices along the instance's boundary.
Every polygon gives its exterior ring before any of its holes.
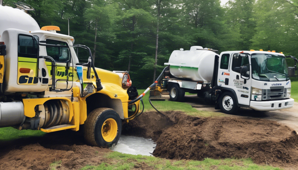
{"type": "Polygon", "coordinates": [[[226,114],[234,114],[240,108],[236,103],[235,96],[231,92],[222,93],[218,99],[218,103],[221,111],[226,114]]]}

